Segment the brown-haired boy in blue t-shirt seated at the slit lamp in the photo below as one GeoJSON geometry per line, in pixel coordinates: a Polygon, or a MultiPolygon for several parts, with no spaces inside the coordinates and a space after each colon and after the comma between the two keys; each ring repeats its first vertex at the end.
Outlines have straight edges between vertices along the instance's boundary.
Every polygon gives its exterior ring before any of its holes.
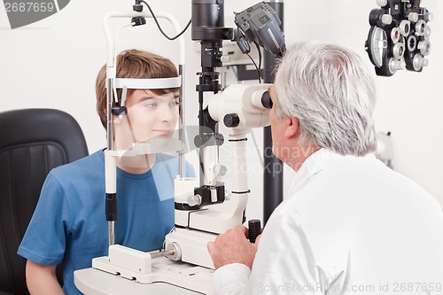
{"type": "MultiPolygon", "coordinates": [[[[97,75],[97,113],[106,128],[105,66],[97,75]]],[[[117,78],[177,77],[167,58],[126,50],[117,57],[117,78]]],[[[121,89],[117,91],[121,104],[121,89]]],[[[128,89],[128,113],[113,116],[114,150],[133,143],[170,137],[179,113],[178,89],[128,89]]],[[[140,251],[161,248],[174,227],[174,178],[178,160],[165,154],[117,159],[118,215],[115,244],[140,251]],[[156,182],[157,181],[157,182],[156,182]]],[[[193,176],[190,165],[186,175],[193,176]]],[[[74,270],[90,268],[92,258],[108,252],[105,220],[105,155],[96,151],[48,175],[19,255],[27,259],[27,286],[32,294],[81,294],[74,286],[74,270]],[[55,269],[63,263],[63,290],[55,269]]]]}

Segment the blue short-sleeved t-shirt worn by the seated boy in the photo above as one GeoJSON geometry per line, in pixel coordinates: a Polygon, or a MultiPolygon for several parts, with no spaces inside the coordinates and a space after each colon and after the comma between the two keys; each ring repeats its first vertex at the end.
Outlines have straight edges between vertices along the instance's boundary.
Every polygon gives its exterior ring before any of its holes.
{"type": "MultiPolygon", "coordinates": [[[[194,176],[187,163],[186,176],[194,176]]],[[[156,164],[141,175],[117,168],[115,243],[140,251],[160,249],[174,227],[174,179],[178,159],[156,155],[156,164]]],[[[74,270],[108,252],[103,151],[51,170],[35,213],[19,246],[19,255],[43,265],[63,262],[63,290],[82,294],[74,270]]]]}

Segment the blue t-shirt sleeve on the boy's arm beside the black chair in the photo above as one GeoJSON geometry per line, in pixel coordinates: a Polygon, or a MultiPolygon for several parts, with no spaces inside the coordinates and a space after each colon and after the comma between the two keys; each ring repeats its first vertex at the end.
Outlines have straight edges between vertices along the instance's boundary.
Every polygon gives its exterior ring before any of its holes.
{"type": "Polygon", "coordinates": [[[69,229],[69,210],[62,185],[53,170],[42,192],[18,254],[43,265],[58,265],[64,257],[69,229]]]}

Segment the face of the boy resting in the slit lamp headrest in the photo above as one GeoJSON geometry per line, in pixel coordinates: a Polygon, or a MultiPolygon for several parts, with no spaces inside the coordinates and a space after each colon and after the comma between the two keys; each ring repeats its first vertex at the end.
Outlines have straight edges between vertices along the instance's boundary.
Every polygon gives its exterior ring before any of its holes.
{"type": "Polygon", "coordinates": [[[152,138],[173,135],[179,117],[178,92],[157,95],[148,89],[136,89],[126,101],[128,114],[115,118],[118,149],[132,143],[148,143],[152,138]]]}

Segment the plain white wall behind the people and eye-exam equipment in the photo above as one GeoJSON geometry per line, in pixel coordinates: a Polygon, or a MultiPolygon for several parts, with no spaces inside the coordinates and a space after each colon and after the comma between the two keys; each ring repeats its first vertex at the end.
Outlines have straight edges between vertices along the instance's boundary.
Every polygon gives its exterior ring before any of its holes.
{"type": "MultiPolygon", "coordinates": [[[[225,1],[225,14],[241,11],[257,1],[225,1]]],[[[190,19],[190,0],[149,1],[154,12],[173,14],[184,27],[190,19]]],[[[73,0],[65,9],[27,27],[11,30],[4,9],[0,9],[0,111],[50,107],[71,113],[82,126],[89,152],[105,146],[105,132],[95,112],[94,83],[98,69],[105,63],[105,37],[101,20],[105,12],[128,11],[133,2],[126,0],[73,0]]],[[[390,78],[376,77],[377,130],[391,131],[393,167],[418,182],[443,204],[443,4],[424,0],[433,12],[430,23],[432,51],[430,66],[423,73],[403,71],[390,78]]],[[[364,51],[369,32],[369,12],[375,0],[289,0],[285,2],[284,28],[288,44],[303,40],[338,43],[355,50],[371,66],[364,51]]],[[[119,24],[120,21],[116,22],[119,24]]],[[[161,22],[173,35],[167,23],[161,22]]],[[[233,24],[226,24],[231,27],[233,24]]],[[[197,123],[195,75],[199,55],[186,39],[186,120],[197,123]]],[[[137,47],[152,50],[178,61],[177,44],[162,38],[156,27],[137,27],[122,31],[118,48],[137,47]]],[[[38,130],[35,130],[38,132],[38,130]]],[[[254,131],[261,147],[261,131],[254,131]]],[[[261,217],[260,158],[253,140],[249,141],[249,159],[253,163],[250,181],[253,194],[248,206],[249,218],[261,217]]],[[[195,160],[195,159],[191,159],[195,160]]],[[[291,182],[285,168],[284,187],[291,182]]]]}

